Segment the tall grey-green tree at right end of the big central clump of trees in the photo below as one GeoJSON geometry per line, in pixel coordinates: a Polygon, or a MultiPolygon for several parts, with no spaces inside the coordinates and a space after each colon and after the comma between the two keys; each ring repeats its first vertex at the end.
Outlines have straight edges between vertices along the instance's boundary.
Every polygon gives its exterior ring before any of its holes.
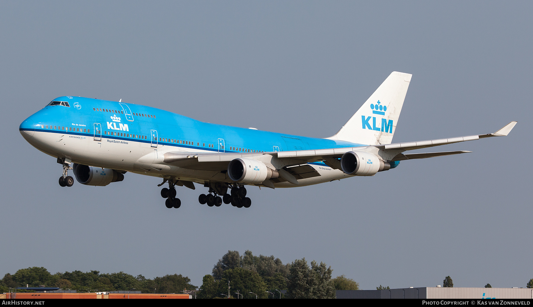
{"type": "Polygon", "coordinates": [[[287,276],[287,297],[291,299],[334,299],[335,288],[331,279],[333,270],[326,264],[311,262],[305,258],[293,261],[287,276]]]}

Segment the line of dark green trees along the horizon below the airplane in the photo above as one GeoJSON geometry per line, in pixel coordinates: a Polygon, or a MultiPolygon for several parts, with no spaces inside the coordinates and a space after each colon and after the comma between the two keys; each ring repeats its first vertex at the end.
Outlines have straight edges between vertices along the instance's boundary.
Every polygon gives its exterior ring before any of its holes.
{"type": "MultiPolygon", "coordinates": [[[[141,291],[142,293],[190,293],[197,291],[199,299],[237,298],[335,298],[335,290],[357,290],[359,284],[344,275],[332,279],[333,270],[325,263],[304,259],[282,263],[279,258],[253,255],[246,251],[228,251],[217,263],[212,274],[203,278],[200,288],[181,274],[154,279],[125,272],[71,271],[51,274],[44,267],[20,269],[7,273],[0,280],[0,292],[17,287],[58,287],[77,292],[141,291]],[[286,295],[281,294],[286,290],[286,295]],[[252,293],[254,294],[252,294],[252,293]]],[[[18,290],[20,291],[20,290],[18,290]]]]}

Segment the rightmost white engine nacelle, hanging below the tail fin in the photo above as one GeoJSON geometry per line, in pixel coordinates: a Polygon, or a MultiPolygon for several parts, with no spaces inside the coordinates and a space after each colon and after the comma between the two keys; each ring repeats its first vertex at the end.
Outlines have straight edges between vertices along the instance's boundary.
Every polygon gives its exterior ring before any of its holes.
{"type": "Polygon", "coordinates": [[[348,175],[373,176],[377,172],[390,169],[391,165],[373,153],[348,151],[342,155],[341,168],[348,175]]]}

